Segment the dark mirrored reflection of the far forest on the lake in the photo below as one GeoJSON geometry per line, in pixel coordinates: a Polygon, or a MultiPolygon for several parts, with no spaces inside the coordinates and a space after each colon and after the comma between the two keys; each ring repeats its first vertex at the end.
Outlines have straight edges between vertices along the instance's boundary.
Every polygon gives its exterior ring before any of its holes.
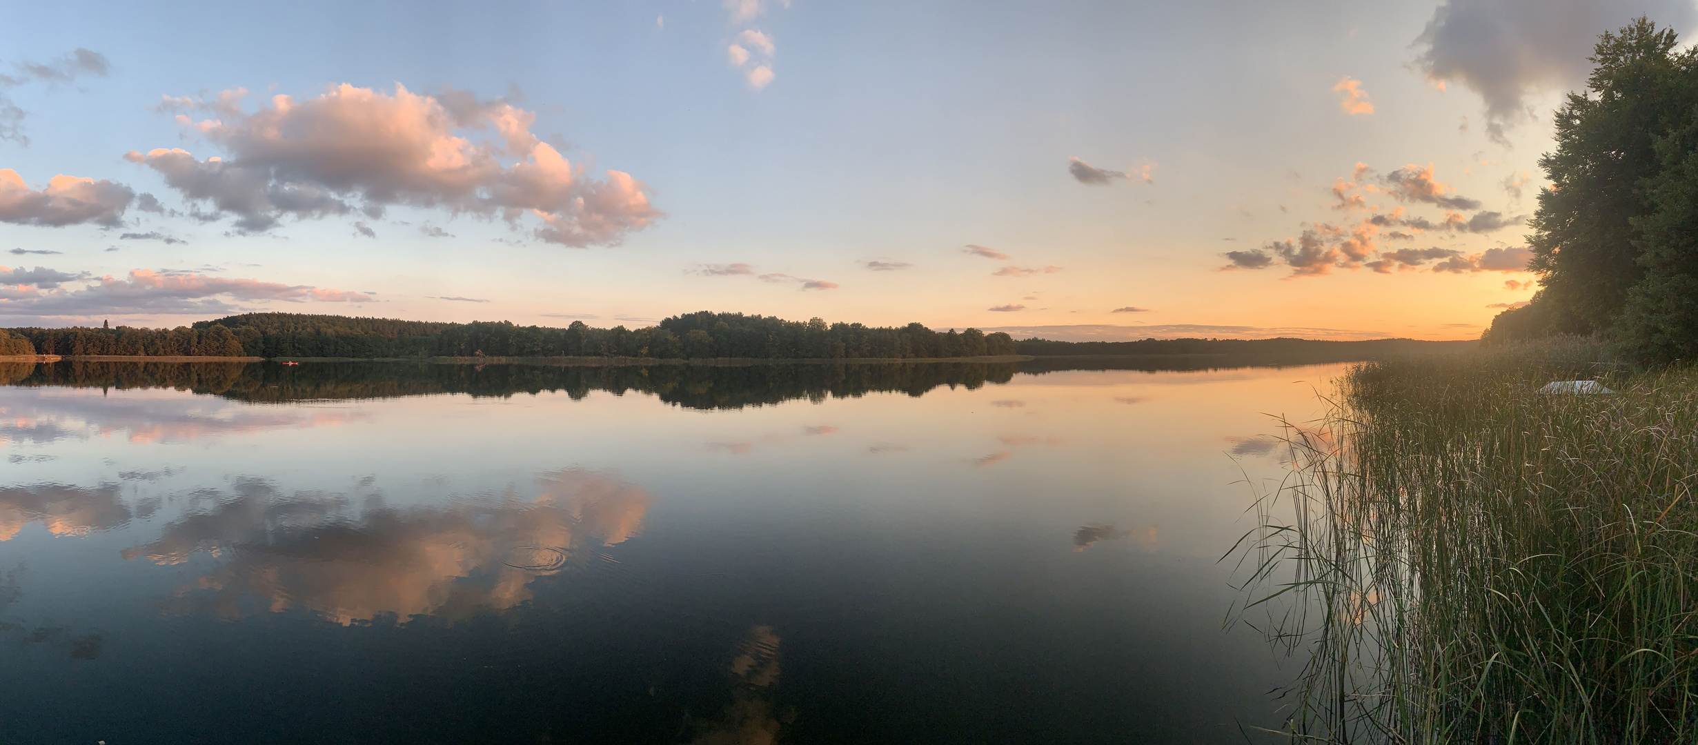
{"type": "Polygon", "coordinates": [[[42,363],[17,385],[171,387],[248,402],[384,399],[396,395],[514,395],[562,390],[654,394],[689,409],[739,409],[791,399],[873,392],[922,395],[939,385],[1005,384],[1014,363],[881,365],[433,365],[331,361],[272,363],[42,363]]]}

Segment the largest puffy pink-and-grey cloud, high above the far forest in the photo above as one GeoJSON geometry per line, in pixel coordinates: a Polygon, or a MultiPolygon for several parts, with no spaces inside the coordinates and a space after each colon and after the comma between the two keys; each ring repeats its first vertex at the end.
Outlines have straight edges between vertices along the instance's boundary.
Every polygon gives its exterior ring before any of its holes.
{"type": "Polygon", "coordinates": [[[205,217],[234,216],[243,232],[268,231],[285,217],[379,217],[406,205],[501,217],[514,229],[530,214],[540,221],[535,238],[582,248],[618,244],[661,217],[642,182],[615,170],[606,180],[589,178],[530,132],[535,114],[501,98],[340,85],[316,98],[272,97],[250,114],[239,107],[245,93],[161,104],[212,112],[177,119],[229,158],[195,160],[163,148],[126,158],[158,171],[183,199],[209,204],[205,217]],[[494,131],[498,139],[474,143],[464,136],[469,131],[494,131]]]}

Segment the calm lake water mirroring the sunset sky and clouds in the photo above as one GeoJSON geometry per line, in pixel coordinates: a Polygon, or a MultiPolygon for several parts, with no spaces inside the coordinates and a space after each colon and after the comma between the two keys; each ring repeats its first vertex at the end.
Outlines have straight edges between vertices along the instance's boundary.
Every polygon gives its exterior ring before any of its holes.
{"type": "Polygon", "coordinates": [[[0,743],[1241,743],[1341,370],[14,363],[0,743]]]}

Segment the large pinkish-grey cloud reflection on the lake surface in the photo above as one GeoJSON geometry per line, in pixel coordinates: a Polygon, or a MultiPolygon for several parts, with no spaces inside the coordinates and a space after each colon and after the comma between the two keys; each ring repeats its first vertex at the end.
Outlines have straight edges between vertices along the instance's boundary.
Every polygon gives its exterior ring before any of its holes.
{"type": "MultiPolygon", "coordinates": [[[[455,501],[433,507],[367,507],[340,494],[284,494],[238,482],[233,499],[173,521],[124,558],[222,562],[180,587],[177,613],[239,618],[304,608],[336,623],[379,616],[464,614],[530,599],[538,574],[508,562],[525,548],[594,558],[635,536],[649,496],[613,475],[567,468],[537,479],[540,494],[455,501]]],[[[528,555],[528,553],[526,553],[528,555]]],[[[554,567],[550,567],[554,569],[554,567]]]]}

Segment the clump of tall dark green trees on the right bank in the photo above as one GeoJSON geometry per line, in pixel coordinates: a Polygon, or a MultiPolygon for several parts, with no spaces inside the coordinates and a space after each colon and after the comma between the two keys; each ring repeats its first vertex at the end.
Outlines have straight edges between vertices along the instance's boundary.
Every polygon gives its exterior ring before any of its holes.
{"type": "Polygon", "coordinates": [[[1639,19],[1606,32],[1555,115],[1530,222],[1540,290],[1487,341],[1603,334],[1644,363],[1698,358],[1698,51],[1639,19]]]}

